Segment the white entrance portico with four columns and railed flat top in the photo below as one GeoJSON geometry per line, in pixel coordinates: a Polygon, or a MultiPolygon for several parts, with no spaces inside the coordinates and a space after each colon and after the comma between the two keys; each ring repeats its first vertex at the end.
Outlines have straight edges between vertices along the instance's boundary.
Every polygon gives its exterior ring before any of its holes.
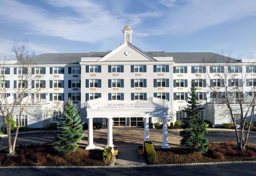
{"type": "Polygon", "coordinates": [[[85,105],[88,119],[88,145],[86,149],[94,149],[93,144],[93,118],[107,119],[107,146],[113,144],[113,118],[144,119],[144,141],[149,141],[149,118],[163,118],[163,148],[169,148],[167,138],[168,101],[165,99],[150,97],[141,101],[104,101],[103,98],[87,101],[85,105]]]}

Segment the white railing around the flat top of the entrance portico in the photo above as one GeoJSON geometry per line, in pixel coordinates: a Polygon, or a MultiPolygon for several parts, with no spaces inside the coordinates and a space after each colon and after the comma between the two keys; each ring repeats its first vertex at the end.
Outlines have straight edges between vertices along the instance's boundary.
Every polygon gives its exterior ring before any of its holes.
{"type": "Polygon", "coordinates": [[[156,108],[156,107],[168,107],[168,101],[166,99],[150,97],[146,100],[140,101],[102,101],[102,98],[89,100],[81,104],[81,108],[156,108]]]}

